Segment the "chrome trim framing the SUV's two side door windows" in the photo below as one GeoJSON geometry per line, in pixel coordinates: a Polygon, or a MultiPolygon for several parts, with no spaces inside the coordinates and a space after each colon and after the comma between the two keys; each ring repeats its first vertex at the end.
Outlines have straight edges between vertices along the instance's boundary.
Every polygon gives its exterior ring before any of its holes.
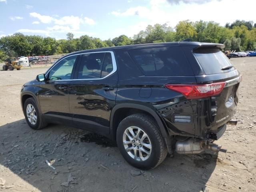
{"type": "MultiPolygon", "coordinates": [[[[106,75],[105,77],[103,78],[94,78],[94,79],[62,79],[62,80],[49,80],[49,81],[73,81],[73,80],[101,80],[101,79],[105,79],[107,78],[108,76],[112,75],[114,72],[116,72],[117,70],[117,66],[116,66],[116,59],[115,59],[115,56],[114,56],[114,52],[113,51],[96,51],[96,52],[87,52],[87,53],[79,53],[79,54],[74,54],[74,55],[69,55],[69,56],[66,56],[64,58],[62,58],[61,60],[59,60],[58,62],[56,62],[52,68],[54,68],[54,66],[56,66],[59,62],[61,62],[63,59],[66,59],[68,57],[71,57],[71,56],[76,56],[76,55],[84,55],[84,54],[92,54],[92,53],[110,53],[111,54],[111,58],[112,58],[112,65],[113,65],[113,70],[112,72],[110,72],[108,75],[106,75]]],[[[52,68],[45,74],[45,76],[48,76],[49,72],[52,70],[52,68]]]]}

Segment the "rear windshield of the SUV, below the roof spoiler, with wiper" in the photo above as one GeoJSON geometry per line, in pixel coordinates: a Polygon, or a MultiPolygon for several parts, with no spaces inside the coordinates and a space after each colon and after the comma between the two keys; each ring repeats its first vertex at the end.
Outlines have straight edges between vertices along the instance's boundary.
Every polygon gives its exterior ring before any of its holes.
{"type": "Polygon", "coordinates": [[[232,63],[228,57],[219,49],[215,48],[202,48],[194,51],[199,64],[202,66],[206,75],[223,73],[234,70],[221,70],[223,67],[230,66],[232,63]]]}

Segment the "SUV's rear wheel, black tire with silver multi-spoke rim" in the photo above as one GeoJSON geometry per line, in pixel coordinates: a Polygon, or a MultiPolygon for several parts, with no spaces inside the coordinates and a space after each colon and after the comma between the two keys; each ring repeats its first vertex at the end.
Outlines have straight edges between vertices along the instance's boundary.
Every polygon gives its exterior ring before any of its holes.
{"type": "Polygon", "coordinates": [[[156,124],[155,120],[146,114],[133,114],[124,118],[118,125],[116,142],[124,159],[132,166],[142,170],[155,168],[164,161],[167,155],[166,144],[158,125],[156,124]],[[138,130],[140,129],[139,136],[132,138],[130,134],[131,132],[126,132],[128,128],[134,131],[134,135],[137,135],[138,130]],[[129,137],[127,134],[125,134],[125,132],[130,135],[132,143],[124,144],[124,142],[130,142],[129,137]],[[148,136],[148,138],[142,136],[144,133],[148,136]],[[140,141],[139,138],[145,139],[140,141]],[[137,140],[135,141],[134,139],[137,140]],[[151,150],[150,148],[145,147],[145,144],[146,146],[151,146],[151,150]],[[129,151],[127,152],[126,150],[129,151]],[[142,155],[144,160],[141,157],[136,158],[135,151],[139,151],[136,152],[137,156],[142,155]],[[144,151],[150,153],[150,155],[148,156],[148,154],[144,153],[144,151]]]}

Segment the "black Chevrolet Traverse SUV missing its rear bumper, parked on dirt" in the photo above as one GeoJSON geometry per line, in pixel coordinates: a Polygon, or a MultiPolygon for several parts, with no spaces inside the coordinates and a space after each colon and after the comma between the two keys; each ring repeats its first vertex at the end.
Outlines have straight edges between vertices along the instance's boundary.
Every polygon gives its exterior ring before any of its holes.
{"type": "Polygon", "coordinates": [[[141,169],[168,152],[218,151],[213,142],[236,112],[241,81],[222,48],[170,42],[65,55],[22,87],[26,121],[33,129],[51,122],[107,136],[141,169]]]}

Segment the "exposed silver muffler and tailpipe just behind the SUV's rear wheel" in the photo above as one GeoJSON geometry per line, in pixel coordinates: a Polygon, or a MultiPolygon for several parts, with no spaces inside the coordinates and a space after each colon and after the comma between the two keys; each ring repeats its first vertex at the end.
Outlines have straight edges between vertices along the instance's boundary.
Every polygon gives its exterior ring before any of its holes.
{"type": "Polygon", "coordinates": [[[218,152],[220,151],[220,148],[221,145],[205,142],[203,140],[195,141],[193,138],[176,142],[176,152],[178,154],[198,154],[204,149],[218,152]]]}

